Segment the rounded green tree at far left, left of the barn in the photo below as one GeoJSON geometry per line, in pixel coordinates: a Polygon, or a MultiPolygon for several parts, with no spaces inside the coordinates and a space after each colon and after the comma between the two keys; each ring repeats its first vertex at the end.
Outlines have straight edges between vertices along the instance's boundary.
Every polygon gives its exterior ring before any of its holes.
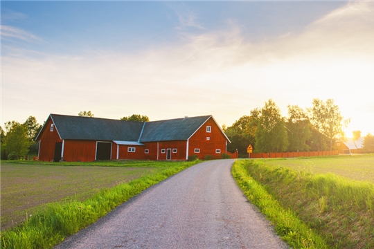
{"type": "Polygon", "coordinates": [[[4,147],[9,159],[19,158],[20,156],[26,156],[28,153],[28,147],[31,142],[28,138],[28,127],[26,124],[19,124],[19,122],[12,121],[12,126],[8,126],[8,132],[4,140],[4,147]]]}

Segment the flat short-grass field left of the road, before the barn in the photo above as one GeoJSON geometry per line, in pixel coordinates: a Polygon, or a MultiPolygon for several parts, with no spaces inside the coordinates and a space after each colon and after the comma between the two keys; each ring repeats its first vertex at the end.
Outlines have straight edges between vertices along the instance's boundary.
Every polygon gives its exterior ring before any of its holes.
{"type": "Polygon", "coordinates": [[[45,203],[83,200],[106,187],[168,167],[166,163],[1,163],[1,230],[22,222],[45,203]]]}

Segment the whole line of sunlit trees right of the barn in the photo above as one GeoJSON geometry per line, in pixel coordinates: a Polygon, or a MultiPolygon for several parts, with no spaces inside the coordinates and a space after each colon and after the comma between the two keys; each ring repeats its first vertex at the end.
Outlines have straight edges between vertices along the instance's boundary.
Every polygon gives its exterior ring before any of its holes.
{"type": "MultiPolygon", "coordinates": [[[[314,98],[312,107],[306,109],[288,105],[287,117],[281,115],[273,100],[268,100],[264,107],[251,110],[249,116],[222,129],[231,140],[227,149],[232,153],[238,149],[244,156],[249,144],[256,153],[332,150],[335,141],[344,138],[343,127],[349,122],[332,99],[324,102],[314,98]]],[[[366,138],[369,144],[370,140],[366,138]]]]}

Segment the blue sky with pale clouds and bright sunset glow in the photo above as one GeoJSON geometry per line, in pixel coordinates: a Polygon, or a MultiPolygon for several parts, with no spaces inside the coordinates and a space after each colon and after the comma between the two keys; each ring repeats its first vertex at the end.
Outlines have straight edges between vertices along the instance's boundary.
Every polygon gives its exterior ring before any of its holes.
{"type": "Polygon", "coordinates": [[[50,113],[231,126],[333,99],[374,134],[373,1],[1,1],[1,124],[50,113]]]}

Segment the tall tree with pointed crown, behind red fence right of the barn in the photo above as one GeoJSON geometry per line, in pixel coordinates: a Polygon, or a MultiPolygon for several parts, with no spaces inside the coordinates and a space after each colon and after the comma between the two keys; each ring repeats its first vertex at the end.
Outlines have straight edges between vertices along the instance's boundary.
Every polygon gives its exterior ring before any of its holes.
{"type": "Polygon", "coordinates": [[[273,100],[265,102],[261,109],[256,131],[256,147],[258,152],[281,152],[288,147],[285,118],[273,100]]]}

